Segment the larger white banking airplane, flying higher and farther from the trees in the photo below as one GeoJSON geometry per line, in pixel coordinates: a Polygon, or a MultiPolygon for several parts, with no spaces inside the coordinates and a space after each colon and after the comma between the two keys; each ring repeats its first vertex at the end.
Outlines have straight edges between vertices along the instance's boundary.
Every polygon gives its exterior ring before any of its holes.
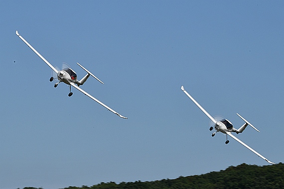
{"type": "MultiPolygon", "coordinates": [[[[88,71],[86,68],[84,68],[83,66],[81,66],[79,63],[77,63],[83,70],[85,70],[87,72],[87,75],[84,76],[80,81],[77,80],[77,74],[71,69],[71,68],[65,68],[63,70],[57,70],[55,67],[53,67],[45,58],[43,58],[43,56],[41,56],[16,30],[16,35],[25,43],[27,44],[27,46],[29,46],[29,48],[31,48],[31,50],[33,50],[56,74],[57,74],[57,78],[58,79],[58,83],[56,83],[54,85],[54,87],[57,87],[57,85],[61,82],[67,84],[70,86],[70,93],[68,96],[73,95],[73,93],[71,93],[71,86],[73,86],[74,88],[76,88],[77,90],[79,90],[80,92],[82,92],[83,94],[89,96],[90,98],[92,98],[93,100],[95,100],[96,102],[98,102],[99,104],[101,104],[102,106],[104,106],[105,108],[107,108],[108,110],[112,111],[113,113],[117,114],[118,116],[120,116],[121,118],[127,119],[127,117],[120,115],[118,112],[116,112],[115,110],[113,110],[112,108],[110,108],[109,106],[105,105],[104,103],[102,103],[101,101],[99,101],[98,99],[96,99],[95,97],[93,97],[92,95],[88,94],[87,92],[85,92],[84,90],[82,90],[81,88],[79,88],[80,85],[83,85],[87,79],[90,77],[90,75],[92,77],[94,77],[95,79],[97,79],[99,82],[101,82],[102,84],[104,84],[101,80],[99,80],[96,76],[94,76],[90,71],[88,71]],[[77,85],[77,86],[76,86],[77,85]]],[[[53,81],[53,77],[50,78],[50,82],[53,81]]]]}

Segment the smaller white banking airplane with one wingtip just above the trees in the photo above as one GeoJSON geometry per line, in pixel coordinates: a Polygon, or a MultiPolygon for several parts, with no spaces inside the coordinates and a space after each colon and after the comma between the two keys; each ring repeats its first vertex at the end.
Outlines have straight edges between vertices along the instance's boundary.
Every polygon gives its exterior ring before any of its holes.
{"type": "MultiPolygon", "coordinates": [[[[266,159],[264,156],[262,156],[261,154],[259,154],[257,151],[255,151],[254,149],[252,149],[251,147],[249,147],[248,145],[246,145],[244,142],[242,142],[240,139],[238,139],[237,137],[235,137],[232,132],[236,132],[237,134],[243,132],[245,130],[245,128],[250,125],[252,126],[255,130],[257,130],[258,132],[260,132],[257,128],[255,128],[250,122],[248,122],[246,119],[244,119],[241,115],[239,115],[237,113],[237,115],[239,117],[241,117],[246,123],[241,126],[239,129],[235,129],[233,127],[233,124],[227,120],[227,119],[222,119],[220,121],[215,120],[191,95],[189,95],[185,90],[184,87],[181,86],[181,90],[185,93],[185,95],[187,95],[213,122],[214,122],[214,127],[216,129],[216,132],[222,132],[224,134],[226,134],[227,136],[227,140],[225,142],[225,144],[229,143],[228,140],[228,135],[230,135],[233,139],[235,139],[236,141],[238,141],[239,143],[241,143],[242,145],[244,145],[245,147],[247,147],[248,149],[250,149],[252,152],[254,152],[255,154],[257,154],[259,157],[261,157],[262,159],[264,159],[265,161],[267,161],[270,164],[275,164],[271,161],[269,161],[268,159],[266,159]]],[[[210,127],[209,129],[210,131],[213,130],[213,127],[210,127]]],[[[212,137],[215,136],[215,133],[212,133],[212,137]]]]}

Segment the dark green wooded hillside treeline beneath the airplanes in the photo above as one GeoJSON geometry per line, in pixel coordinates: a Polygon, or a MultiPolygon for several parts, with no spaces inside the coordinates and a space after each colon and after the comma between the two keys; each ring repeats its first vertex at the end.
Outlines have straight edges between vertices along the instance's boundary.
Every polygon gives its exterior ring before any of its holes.
{"type": "MultiPolygon", "coordinates": [[[[36,189],[36,188],[24,188],[36,189]]],[[[41,188],[40,188],[41,189],[41,188]]],[[[101,183],[92,187],[64,189],[284,189],[284,164],[256,166],[241,164],[225,171],[151,182],[101,183]]]]}

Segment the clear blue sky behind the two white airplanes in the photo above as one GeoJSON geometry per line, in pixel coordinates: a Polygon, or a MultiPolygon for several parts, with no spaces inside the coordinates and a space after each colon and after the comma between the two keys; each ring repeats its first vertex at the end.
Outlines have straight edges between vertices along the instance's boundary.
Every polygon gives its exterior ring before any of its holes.
{"type": "Polygon", "coordinates": [[[283,1],[0,1],[0,188],[154,181],[284,162],[283,1]],[[83,90],[49,82],[67,62],[83,90]]]}

